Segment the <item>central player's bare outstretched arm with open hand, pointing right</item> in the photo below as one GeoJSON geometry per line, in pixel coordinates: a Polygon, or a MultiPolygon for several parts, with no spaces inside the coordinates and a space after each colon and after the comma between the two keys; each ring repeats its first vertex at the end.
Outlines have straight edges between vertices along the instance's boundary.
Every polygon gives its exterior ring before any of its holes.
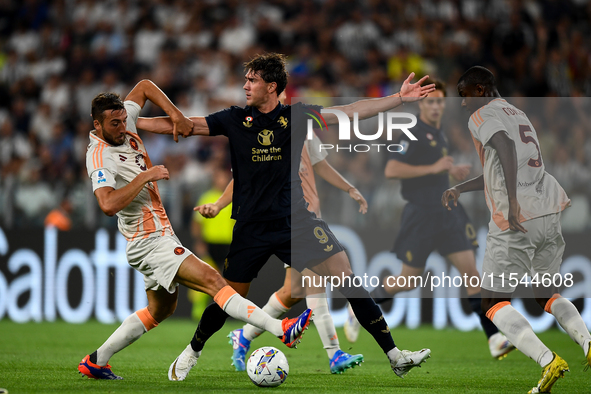
{"type": "MultiPolygon", "coordinates": [[[[435,90],[435,85],[421,86],[421,84],[429,78],[428,75],[421,78],[417,83],[410,83],[414,78],[415,73],[410,73],[408,78],[402,84],[400,92],[391,96],[359,100],[348,105],[341,105],[337,107],[330,107],[327,109],[336,109],[344,112],[349,119],[353,119],[353,114],[357,112],[359,119],[367,119],[377,115],[380,112],[386,112],[392,108],[396,108],[405,102],[417,101],[427,97],[427,95],[435,90]]],[[[334,114],[322,114],[327,124],[338,123],[338,118],[334,114]]]]}

